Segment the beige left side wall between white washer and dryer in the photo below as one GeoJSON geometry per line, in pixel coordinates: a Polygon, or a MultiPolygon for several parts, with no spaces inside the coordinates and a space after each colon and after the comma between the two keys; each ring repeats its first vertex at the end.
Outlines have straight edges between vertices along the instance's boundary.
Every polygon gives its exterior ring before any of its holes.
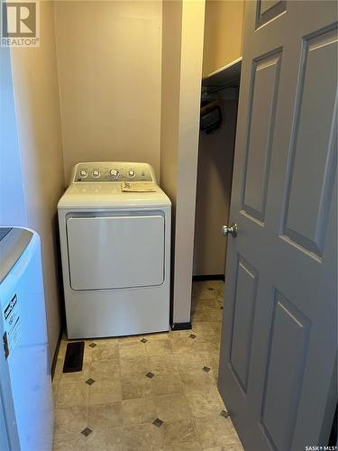
{"type": "Polygon", "coordinates": [[[60,329],[55,217],[64,178],[51,2],[41,2],[41,46],[12,49],[11,56],[27,225],[41,235],[50,354],[53,355],[60,329]]]}

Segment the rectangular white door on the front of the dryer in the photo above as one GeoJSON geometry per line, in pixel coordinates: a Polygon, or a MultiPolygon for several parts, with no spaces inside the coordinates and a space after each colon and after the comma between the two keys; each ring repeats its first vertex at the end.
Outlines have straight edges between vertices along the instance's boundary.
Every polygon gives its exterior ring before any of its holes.
{"type": "Polygon", "coordinates": [[[148,287],[164,281],[164,217],[69,217],[73,290],[148,287]]]}

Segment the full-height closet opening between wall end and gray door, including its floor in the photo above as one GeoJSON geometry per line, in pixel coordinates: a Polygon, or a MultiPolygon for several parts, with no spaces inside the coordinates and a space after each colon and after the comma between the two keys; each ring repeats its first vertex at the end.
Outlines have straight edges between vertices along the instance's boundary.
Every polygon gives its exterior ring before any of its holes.
{"type": "Polygon", "coordinates": [[[227,245],[222,231],[228,224],[232,193],[243,9],[242,2],[206,2],[191,326],[193,335],[203,343],[204,357],[216,382],[227,245]]]}

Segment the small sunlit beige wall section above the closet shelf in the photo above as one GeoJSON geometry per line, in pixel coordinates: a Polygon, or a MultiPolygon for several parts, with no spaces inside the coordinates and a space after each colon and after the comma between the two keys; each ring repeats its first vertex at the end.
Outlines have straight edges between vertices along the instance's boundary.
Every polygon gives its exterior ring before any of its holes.
{"type": "Polygon", "coordinates": [[[242,56],[244,0],[206,0],[203,77],[242,56]]]}

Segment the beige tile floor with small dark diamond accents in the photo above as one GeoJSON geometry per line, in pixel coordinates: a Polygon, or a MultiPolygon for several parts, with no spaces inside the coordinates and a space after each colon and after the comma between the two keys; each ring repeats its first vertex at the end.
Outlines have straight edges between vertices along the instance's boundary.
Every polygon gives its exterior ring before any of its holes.
{"type": "Polygon", "coordinates": [[[195,282],[192,330],[85,342],[53,380],[55,451],[240,451],[216,388],[223,282],[195,282]]]}

